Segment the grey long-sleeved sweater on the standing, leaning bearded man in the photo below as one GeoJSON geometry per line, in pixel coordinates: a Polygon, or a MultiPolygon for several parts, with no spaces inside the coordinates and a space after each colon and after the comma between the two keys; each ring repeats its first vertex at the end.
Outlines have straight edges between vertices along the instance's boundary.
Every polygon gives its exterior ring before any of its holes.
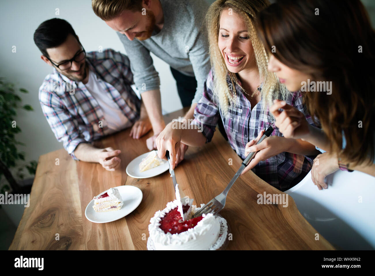
{"type": "Polygon", "coordinates": [[[159,33],[154,31],[144,41],[130,41],[126,35],[117,33],[130,59],[134,83],[140,93],[159,89],[159,74],[151,52],[182,74],[195,76],[197,88],[192,103],[198,103],[211,68],[204,24],[208,5],[204,0],[160,0],[160,3],[164,25],[159,33]]]}

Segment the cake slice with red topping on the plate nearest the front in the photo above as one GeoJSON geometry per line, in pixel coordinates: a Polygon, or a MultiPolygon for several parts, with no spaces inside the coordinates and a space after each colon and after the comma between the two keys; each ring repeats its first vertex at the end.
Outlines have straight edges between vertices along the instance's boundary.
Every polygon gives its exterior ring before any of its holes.
{"type": "Polygon", "coordinates": [[[94,197],[95,212],[110,212],[120,210],[124,202],[116,188],[111,188],[102,195],[94,197]]]}

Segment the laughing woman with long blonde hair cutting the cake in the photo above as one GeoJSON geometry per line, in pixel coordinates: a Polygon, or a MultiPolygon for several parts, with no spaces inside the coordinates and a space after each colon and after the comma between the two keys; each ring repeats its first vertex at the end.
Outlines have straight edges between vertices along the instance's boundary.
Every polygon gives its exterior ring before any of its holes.
{"type": "Polygon", "coordinates": [[[229,144],[241,158],[259,151],[244,172],[252,169],[281,191],[296,185],[309,172],[318,154],[310,143],[284,138],[275,128],[272,136],[255,145],[267,127],[275,127],[269,112],[274,99],[284,99],[313,124],[300,93],[288,92],[274,73],[267,72],[268,56],[254,23],[257,12],[268,5],[261,0],[217,0],[210,6],[206,24],[212,69],[192,123],[201,130],[174,129],[173,122],[168,124],[156,139],[160,158],[168,150],[175,164],[181,142],[190,146],[210,142],[221,119],[229,144]]]}

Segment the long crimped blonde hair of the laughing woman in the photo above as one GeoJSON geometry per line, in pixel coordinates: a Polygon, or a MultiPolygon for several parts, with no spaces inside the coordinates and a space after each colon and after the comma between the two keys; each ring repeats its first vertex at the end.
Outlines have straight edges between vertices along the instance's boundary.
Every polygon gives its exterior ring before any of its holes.
{"type": "MultiPolygon", "coordinates": [[[[255,15],[262,9],[269,6],[267,0],[217,0],[208,9],[206,15],[206,26],[208,31],[209,50],[211,57],[211,66],[214,71],[214,97],[219,101],[219,108],[224,116],[228,114],[229,105],[234,106],[236,101],[236,85],[245,89],[240,85],[240,81],[236,74],[229,72],[226,67],[225,60],[218,47],[218,36],[220,27],[220,16],[224,9],[232,8],[233,12],[239,13],[248,26],[248,33],[254,49],[254,56],[259,70],[259,76],[263,79],[263,87],[261,95],[263,98],[262,112],[273,104],[273,100],[281,94],[282,100],[285,100],[288,90],[279,82],[276,74],[268,72],[267,65],[269,56],[260,41],[255,30],[255,15]],[[232,88],[228,86],[226,77],[229,75],[232,88]]],[[[270,114],[272,117],[272,114],[270,114]]]]}

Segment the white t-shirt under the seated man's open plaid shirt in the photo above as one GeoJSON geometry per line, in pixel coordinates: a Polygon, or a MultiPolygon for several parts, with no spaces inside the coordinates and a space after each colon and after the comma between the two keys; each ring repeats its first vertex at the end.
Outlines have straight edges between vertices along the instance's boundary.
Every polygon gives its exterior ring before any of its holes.
{"type": "Polygon", "coordinates": [[[99,80],[92,71],[89,70],[89,81],[85,84],[87,90],[93,98],[98,102],[103,111],[105,122],[110,133],[123,130],[132,126],[132,122],[126,118],[122,110],[111,98],[111,95],[103,87],[99,85],[99,80]]]}

